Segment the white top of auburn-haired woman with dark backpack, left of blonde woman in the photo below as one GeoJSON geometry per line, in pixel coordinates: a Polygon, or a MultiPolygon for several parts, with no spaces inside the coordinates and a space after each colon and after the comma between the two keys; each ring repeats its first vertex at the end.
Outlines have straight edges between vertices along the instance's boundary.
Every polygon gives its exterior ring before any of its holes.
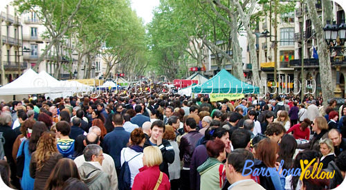
{"type": "Polygon", "coordinates": [[[143,153],[138,153],[129,147],[123,148],[120,153],[120,164],[124,164],[125,160],[129,164],[129,169],[131,172],[131,187],[134,184],[134,177],[139,173],[139,169],[143,167],[143,153]],[[125,153],[125,155],[124,155],[125,153]],[[138,155],[140,154],[140,155],[138,155]],[[136,156],[137,155],[137,156],[136,156]],[[134,156],[136,156],[134,158],[134,156]],[[131,158],[134,158],[131,160],[131,158]],[[131,161],[129,161],[131,160],[131,161]]]}

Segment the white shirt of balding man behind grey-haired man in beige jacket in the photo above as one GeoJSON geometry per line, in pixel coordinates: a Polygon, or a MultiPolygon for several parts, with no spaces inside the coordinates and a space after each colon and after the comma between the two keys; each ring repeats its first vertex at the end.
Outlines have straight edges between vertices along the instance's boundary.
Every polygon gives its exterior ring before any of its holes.
{"type": "MultiPolygon", "coordinates": [[[[111,189],[116,190],[118,189],[118,175],[116,175],[116,165],[114,164],[113,158],[111,158],[111,156],[108,155],[107,153],[103,153],[103,157],[104,157],[104,160],[102,161],[102,166],[100,169],[101,171],[109,175],[109,177],[111,178],[111,189]]],[[[82,164],[86,162],[84,159],[84,155],[78,156],[73,161],[75,162],[75,165],[77,167],[82,166],[82,164]]]]}

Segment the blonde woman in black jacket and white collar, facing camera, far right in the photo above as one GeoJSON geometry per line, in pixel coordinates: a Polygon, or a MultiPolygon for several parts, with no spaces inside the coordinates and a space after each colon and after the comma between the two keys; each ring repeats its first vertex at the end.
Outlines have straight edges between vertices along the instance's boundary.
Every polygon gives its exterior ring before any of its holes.
{"type": "Polygon", "coordinates": [[[329,138],[320,140],[320,152],[322,153],[322,157],[320,158],[320,162],[323,164],[322,169],[326,169],[329,162],[334,161],[336,158],[333,142],[329,138]]]}

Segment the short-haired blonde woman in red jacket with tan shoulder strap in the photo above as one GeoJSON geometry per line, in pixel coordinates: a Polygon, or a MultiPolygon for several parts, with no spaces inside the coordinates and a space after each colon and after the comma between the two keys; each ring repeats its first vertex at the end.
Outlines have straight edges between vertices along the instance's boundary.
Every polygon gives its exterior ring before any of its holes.
{"type": "Polygon", "coordinates": [[[143,150],[143,168],[134,178],[132,189],[152,190],[170,189],[168,176],[160,171],[158,165],[163,162],[162,153],[158,146],[147,146],[143,150]]]}

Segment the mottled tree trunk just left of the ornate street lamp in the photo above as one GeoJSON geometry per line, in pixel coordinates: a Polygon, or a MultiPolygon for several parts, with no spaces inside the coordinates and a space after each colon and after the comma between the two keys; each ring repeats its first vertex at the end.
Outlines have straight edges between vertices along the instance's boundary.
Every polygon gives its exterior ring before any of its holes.
{"type": "MultiPolygon", "coordinates": [[[[320,62],[320,79],[322,88],[323,106],[327,107],[328,99],[334,97],[333,84],[331,82],[331,61],[325,37],[323,35],[322,21],[319,19],[315,6],[316,1],[307,0],[307,8],[311,18],[311,23],[316,30],[316,39],[318,44],[318,59],[320,62]]],[[[327,3],[330,3],[329,1],[327,3]]]]}

